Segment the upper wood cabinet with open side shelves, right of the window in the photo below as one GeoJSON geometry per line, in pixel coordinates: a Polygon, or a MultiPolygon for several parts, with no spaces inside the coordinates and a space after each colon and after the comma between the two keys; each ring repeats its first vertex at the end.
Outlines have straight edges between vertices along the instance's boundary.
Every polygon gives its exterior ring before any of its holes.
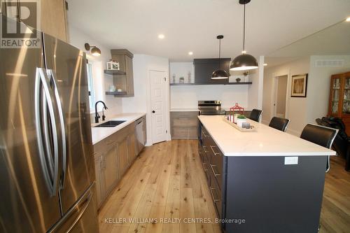
{"type": "MultiPolygon", "coordinates": [[[[116,89],[122,92],[106,92],[115,97],[134,97],[134,73],[132,71],[132,58],[134,55],[125,49],[111,50],[113,61],[119,62],[120,71],[111,72],[113,75],[113,84],[116,89]]],[[[110,72],[106,72],[110,73],[110,72]]]]}

